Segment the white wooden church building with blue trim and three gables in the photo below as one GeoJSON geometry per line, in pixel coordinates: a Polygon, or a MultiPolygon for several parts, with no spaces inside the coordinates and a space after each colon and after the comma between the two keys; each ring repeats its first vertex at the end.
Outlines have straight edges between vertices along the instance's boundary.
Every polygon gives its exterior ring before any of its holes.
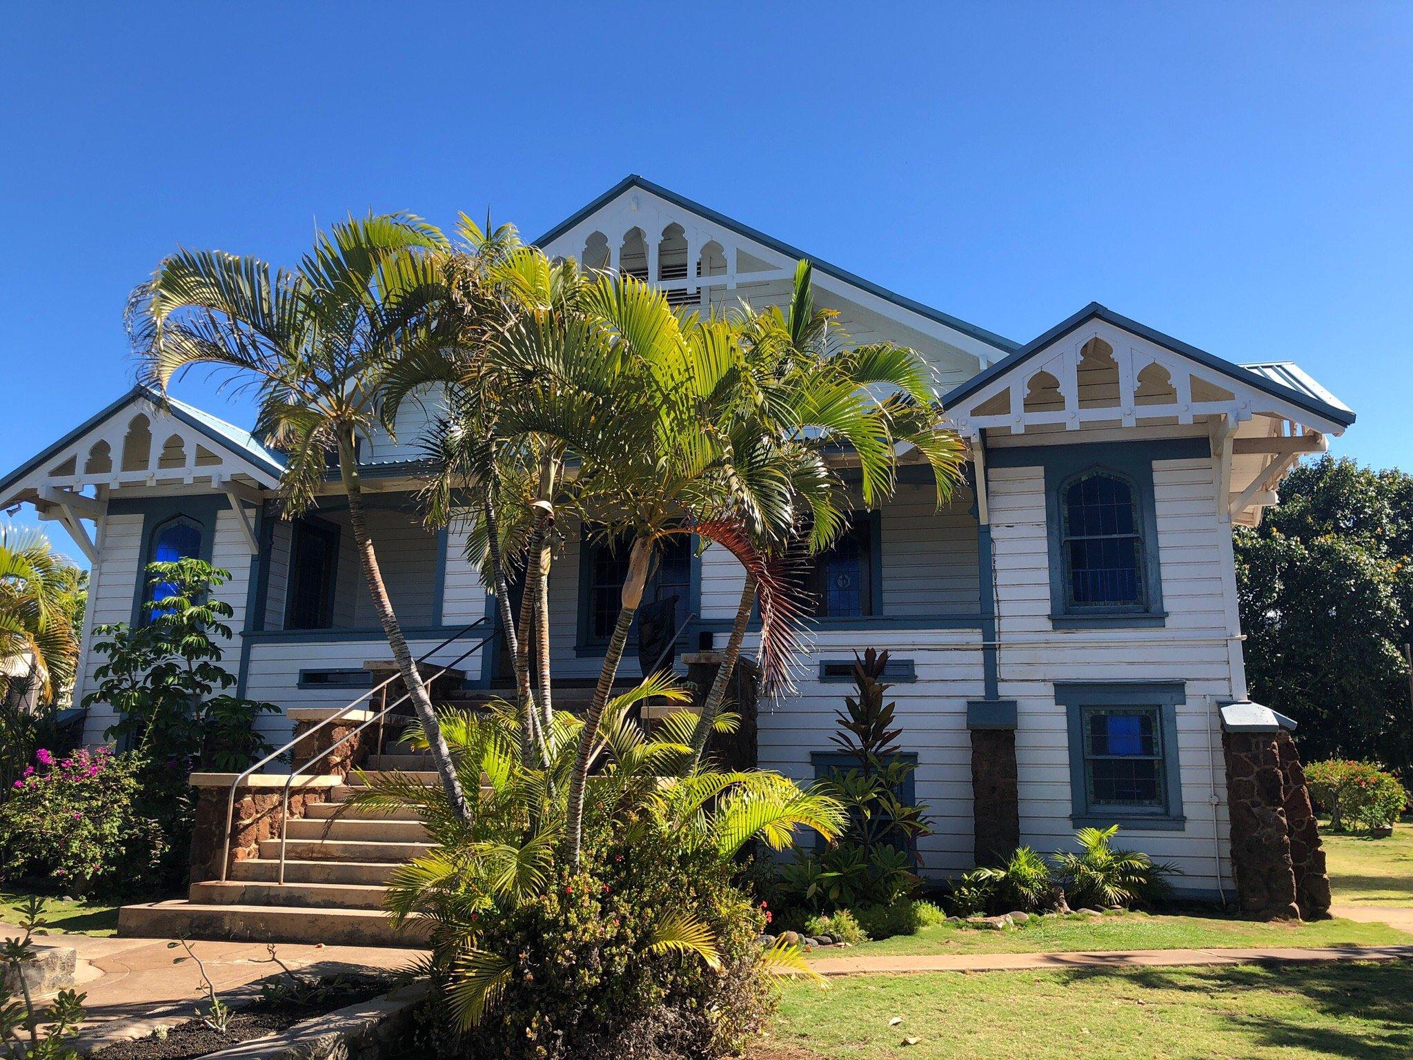
{"type": "MultiPolygon", "coordinates": [[[[658,283],[674,304],[783,301],[810,257],[760,230],[629,177],[538,240],[551,254],[658,283]]],[[[1303,454],[1354,413],[1299,366],[1224,359],[1089,304],[1020,343],[814,260],[817,301],[858,342],[911,346],[968,444],[971,475],[937,510],[926,466],[907,468],[882,510],[859,510],[817,561],[821,588],[798,694],[759,709],[759,763],[812,779],[855,650],[892,653],[903,750],[933,835],[935,876],[968,869],[989,799],[976,786],[981,734],[1013,745],[1012,841],[1064,847],[1084,824],[1178,865],[1181,889],[1229,892],[1221,708],[1246,698],[1232,526],[1253,524],[1303,454]],[[1252,362],[1256,363],[1241,363],[1252,362]]],[[[417,413],[408,413],[414,416],[417,413]]],[[[365,448],[370,516],[414,650],[489,613],[459,531],[418,524],[417,424],[365,448]]],[[[227,659],[239,693],[297,708],[338,707],[386,657],[349,547],[338,488],[308,519],[276,516],[281,458],[244,428],[141,389],[76,425],[0,481],[0,507],[58,520],[93,564],[75,702],[100,661],[93,626],[138,619],[140,572],[199,555],[233,574],[227,659]]],[[[598,673],[622,565],[564,529],[551,602],[554,673],[598,673]]],[[[725,640],[742,571],[725,553],[663,563],[650,599],[677,598],[677,650],[725,640]]],[[[466,683],[495,685],[487,646],[466,683]]],[[[633,671],[633,663],[625,663],[633,671]]],[[[97,742],[113,717],[89,711],[97,742]]],[[[288,715],[261,722],[283,742],[288,715]]],[[[1005,773],[1009,763],[1000,763],[1005,773]]],[[[988,789],[989,791],[989,789],[988,789]]]]}

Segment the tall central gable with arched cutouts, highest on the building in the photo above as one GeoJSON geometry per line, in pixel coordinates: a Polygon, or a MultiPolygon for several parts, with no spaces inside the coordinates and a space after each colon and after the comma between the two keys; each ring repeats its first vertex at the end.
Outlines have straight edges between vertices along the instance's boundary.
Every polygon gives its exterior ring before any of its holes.
{"type": "Polygon", "coordinates": [[[675,305],[755,307],[788,298],[801,259],[814,266],[822,305],[839,310],[861,342],[917,349],[944,383],[957,383],[1016,343],[889,291],[661,185],[632,175],[536,240],[551,256],[615,269],[661,287],[675,305]]]}

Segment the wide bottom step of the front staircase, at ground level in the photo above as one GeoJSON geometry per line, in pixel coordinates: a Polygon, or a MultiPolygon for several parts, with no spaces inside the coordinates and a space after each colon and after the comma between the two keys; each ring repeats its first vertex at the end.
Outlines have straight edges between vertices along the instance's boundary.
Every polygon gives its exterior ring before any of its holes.
{"type": "Polygon", "coordinates": [[[137,938],[209,938],[246,943],[328,943],[331,946],[425,946],[427,921],[414,917],[394,929],[376,909],[302,909],[205,902],[148,902],[123,906],[117,933],[137,938]]]}

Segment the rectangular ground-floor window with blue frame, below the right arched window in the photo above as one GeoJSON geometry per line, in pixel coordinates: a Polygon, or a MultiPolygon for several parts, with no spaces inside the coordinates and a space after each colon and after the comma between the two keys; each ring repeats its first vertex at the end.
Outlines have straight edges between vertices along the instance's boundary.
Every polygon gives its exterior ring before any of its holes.
{"type": "Polygon", "coordinates": [[[1183,827],[1181,702],[1180,683],[1056,684],[1056,704],[1068,718],[1075,825],[1183,827]]]}

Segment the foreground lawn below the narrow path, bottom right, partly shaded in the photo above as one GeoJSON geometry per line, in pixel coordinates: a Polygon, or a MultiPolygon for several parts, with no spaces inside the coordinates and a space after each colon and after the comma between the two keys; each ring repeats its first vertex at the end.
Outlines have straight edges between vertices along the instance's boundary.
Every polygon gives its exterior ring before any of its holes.
{"type": "Polygon", "coordinates": [[[861,975],[784,987],[747,1060],[1413,1056],[1409,965],[861,975]],[[901,1023],[889,1020],[901,1016],[901,1023]],[[913,1047],[900,1047],[916,1037],[913,1047]]]}

